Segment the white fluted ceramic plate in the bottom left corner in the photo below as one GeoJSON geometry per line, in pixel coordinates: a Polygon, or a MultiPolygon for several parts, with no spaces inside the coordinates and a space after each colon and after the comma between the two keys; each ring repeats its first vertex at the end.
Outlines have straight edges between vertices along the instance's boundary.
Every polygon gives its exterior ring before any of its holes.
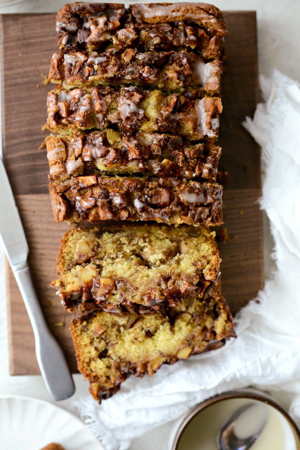
{"type": "Polygon", "coordinates": [[[0,397],[0,448],[40,450],[56,442],[65,450],[104,450],[83,422],[66,410],[34,398],[0,397]]]}

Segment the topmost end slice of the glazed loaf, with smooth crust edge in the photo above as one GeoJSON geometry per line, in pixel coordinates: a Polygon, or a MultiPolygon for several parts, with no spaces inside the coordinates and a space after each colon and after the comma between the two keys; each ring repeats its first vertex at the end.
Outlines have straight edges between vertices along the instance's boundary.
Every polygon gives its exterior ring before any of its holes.
{"type": "Polygon", "coordinates": [[[222,58],[227,33],[222,13],[205,3],[124,4],[75,2],[56,16],[60,49],[91,52],[114,45],[152,50],[188,49],[202,58],[222,58]]]}

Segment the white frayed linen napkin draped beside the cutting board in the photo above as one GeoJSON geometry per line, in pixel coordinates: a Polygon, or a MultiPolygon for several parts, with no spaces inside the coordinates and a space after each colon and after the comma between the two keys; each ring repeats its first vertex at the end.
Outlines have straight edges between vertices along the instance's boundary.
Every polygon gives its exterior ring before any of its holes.
{"type": "MultiPolygon", "coordinates": [[[[275,242],[273,279],[238,315],[237,339],[164,365],[152,378],[132,376],[100,406],[90,396],[77,403],[106,450],[126,450],[132,438],[229,389],[300,392],[300,88],[278,71],[270,79],[261,76],[260,86],[265,103],[243,125],[262,147],[260,205],[275,242]]],[[[291,412],[300,419],[300,394],[291,412]]]]}

